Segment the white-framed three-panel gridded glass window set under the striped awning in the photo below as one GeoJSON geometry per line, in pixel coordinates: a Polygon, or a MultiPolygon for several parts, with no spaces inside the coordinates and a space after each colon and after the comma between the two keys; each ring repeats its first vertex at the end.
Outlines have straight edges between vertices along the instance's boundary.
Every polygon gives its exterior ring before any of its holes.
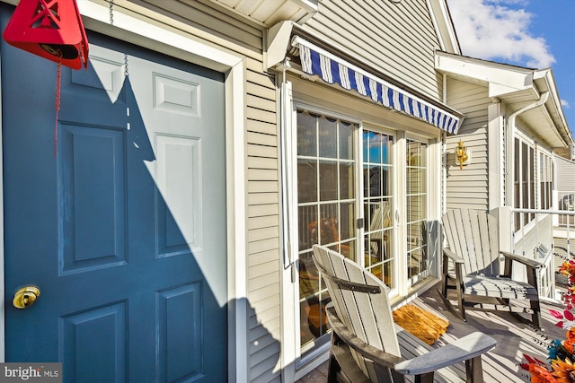
{"type": "Polygon", "coordinates": [[[314,266],[314,244],[358,262],[391,295],[429,276],[429,142],[420,137],[400,144],[397,133],[383,125],[364,126],[305,104],[296,104],[293,116],[294,145],[288,150],[295,177],[288,187],[294,196],[289,216],[297,229],[297,276],[288,288],[294,293],[289,312],[299,368],[330,339],[330,296],[314,266]]]}

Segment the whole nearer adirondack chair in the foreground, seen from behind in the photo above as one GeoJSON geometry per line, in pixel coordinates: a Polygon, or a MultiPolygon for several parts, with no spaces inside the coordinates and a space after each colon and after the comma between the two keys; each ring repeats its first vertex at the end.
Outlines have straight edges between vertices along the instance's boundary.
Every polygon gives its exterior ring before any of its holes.
{"type": "Polygon", "coordinates": [[[408,375],[416,382],[483,381],[481,355],[497,344],[493,338],[476,332],[431,349],[394,325],[388,289],[373,274],[319,245],[313,257],[332,297],[328,382],[403,382],[408,375]]]}

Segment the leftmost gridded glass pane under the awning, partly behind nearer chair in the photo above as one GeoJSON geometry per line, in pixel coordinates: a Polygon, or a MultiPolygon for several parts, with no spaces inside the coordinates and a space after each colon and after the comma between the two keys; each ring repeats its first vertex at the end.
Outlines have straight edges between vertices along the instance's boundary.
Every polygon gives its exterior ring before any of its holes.
{"type": "Polygon", "coordinates": [[[297,230],[300,340],[305,352],[328,331],[327,289],[312,259],[315,243],[356,260],[357,126],[297,111],[297,230]]]}

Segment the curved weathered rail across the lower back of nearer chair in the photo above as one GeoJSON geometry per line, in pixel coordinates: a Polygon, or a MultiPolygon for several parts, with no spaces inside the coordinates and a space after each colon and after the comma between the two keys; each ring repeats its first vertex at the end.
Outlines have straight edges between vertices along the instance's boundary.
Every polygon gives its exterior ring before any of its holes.
{"type": "Polygon", "coordinates": [[[326,313],[330,326],[332,326],[332,331],[334,331],[345,344],[348,344],[349,347],[356,352],[374,361],[376,364],[389,368],[394,368],[394,365],[398,361],[403,360],[400,356],[396,356],[392,353],[385,353],[385,351],[379,350],[371,344],[367,344],[359,339],[349,331],[343,323],[341,323],[341,320],[337,317],[333,307],[326,308],[326,313]]]}

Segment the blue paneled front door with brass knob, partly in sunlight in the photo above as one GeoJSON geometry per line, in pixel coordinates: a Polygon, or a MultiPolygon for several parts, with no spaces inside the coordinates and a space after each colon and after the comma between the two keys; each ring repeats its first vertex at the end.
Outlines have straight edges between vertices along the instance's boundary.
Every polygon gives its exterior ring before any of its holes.
{"type": "Polygon", "coordinates": [[[223,74],[88,38],[57,124],[57,65],[0,47],[6,361],[61,361],[66,382],[226,381],[223,74]],[[26,285],[40,296],[16,309],[26,285]]]}

